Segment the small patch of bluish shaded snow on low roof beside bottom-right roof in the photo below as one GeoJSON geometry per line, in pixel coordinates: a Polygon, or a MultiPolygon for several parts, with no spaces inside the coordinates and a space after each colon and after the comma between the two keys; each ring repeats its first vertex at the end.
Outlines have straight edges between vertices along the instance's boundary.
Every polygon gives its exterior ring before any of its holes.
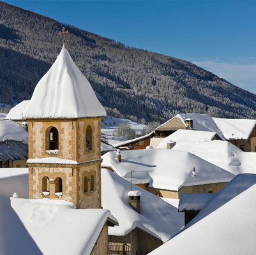
{"type": "Polygon", "coordinates": [[[215,194],[209,193],[184,193],[179,198],[179,211],[183,210],[202,210],[206,203],[211,200],[215,194]]]}

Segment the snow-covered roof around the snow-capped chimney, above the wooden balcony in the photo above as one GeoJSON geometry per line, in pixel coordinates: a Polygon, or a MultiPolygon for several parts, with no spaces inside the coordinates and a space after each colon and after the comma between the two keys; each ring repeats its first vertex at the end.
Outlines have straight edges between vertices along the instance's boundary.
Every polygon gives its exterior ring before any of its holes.
{"type": "Polygon", "coordinates": [[[167,242],[184,225],[184,214],[144,189],[132,185],[141,193],[140,214],[128,204],[130,182],[107,169],[102,169],[102,207],[109,209],[119,226],[109,228],[109,235],[126,235],[140,228],[150,235],[167,242]]]}

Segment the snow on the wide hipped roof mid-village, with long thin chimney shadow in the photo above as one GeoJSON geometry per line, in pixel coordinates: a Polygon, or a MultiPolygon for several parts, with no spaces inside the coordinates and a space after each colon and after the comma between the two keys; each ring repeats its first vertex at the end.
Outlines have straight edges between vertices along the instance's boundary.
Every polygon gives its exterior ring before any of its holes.
{"type": "Polygon", "coordinates": [[[178,191],[182,186],[229,182],[235,176],[200,157],[179,150],[123,150],[121,155],[119,163],[116,152],[108,152],[102,156],[102,166],[111,167],[126,180],[130,180],[133,170],[132,177],[136,177],[133,183],[147,183],[139,180],[149,177],[149,186],[160,189],[178,191]],[[195,176],[192,174],[194,167],[195,176]]]}

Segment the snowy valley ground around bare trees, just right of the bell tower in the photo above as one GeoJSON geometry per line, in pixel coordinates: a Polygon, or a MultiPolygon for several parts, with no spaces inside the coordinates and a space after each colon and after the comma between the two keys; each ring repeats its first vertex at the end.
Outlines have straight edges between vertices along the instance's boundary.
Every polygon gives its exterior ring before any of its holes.
{"type": "Polygon", "coordinates": [[[102,118],[102,135],[107,138],[109,144],[114,145],[116,143],[125,141],[123,137],[117,137],[113,135],[117,127],[123,122],[127,122],[130,125],[130,128],[134,129],[137,134],[140,134],[142,129],[146,126],[144,124],[133,122],[132,120],[129,120],[129,119],[119,119],[112,116],[103,117],[102,118]]]}

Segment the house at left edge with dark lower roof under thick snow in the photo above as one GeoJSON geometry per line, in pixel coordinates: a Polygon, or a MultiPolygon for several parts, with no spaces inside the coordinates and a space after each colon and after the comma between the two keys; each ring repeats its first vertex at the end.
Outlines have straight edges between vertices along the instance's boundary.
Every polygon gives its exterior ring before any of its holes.
{"type": "Polygon", "coordinates": [[[0,120],[0,168],[25,168],[27,131],[12,120],[0,120]]]}

